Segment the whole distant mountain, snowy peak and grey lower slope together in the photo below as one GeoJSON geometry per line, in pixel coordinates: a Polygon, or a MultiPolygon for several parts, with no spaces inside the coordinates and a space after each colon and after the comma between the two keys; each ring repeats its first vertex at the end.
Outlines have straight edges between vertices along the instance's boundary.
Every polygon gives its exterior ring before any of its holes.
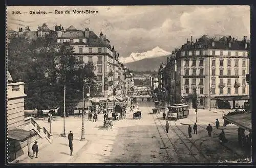
{"type": "Polygon", "coordinates": [[[158,70],[161,62],[166,62],[166,58],[171,53],[155,47],[143,53],[132,53],[129,57],[120,57],[119,61],[131,70],[146,71],[158,70]]]}

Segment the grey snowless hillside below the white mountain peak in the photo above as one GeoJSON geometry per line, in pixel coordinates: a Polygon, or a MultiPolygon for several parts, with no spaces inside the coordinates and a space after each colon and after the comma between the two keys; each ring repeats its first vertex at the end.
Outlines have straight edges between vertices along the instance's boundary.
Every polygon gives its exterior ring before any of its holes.
{"type": "Polygon", "coordinates": [[[146,58],[143,60],[130,62],[124,64],[126,67],[130,68],[131,70],[138,70],[138,71],[146,71],[146,70],[156,70],[160,67],[160,63],[166,63],[167,56],[161,56],[156,58],[146,58]]]}

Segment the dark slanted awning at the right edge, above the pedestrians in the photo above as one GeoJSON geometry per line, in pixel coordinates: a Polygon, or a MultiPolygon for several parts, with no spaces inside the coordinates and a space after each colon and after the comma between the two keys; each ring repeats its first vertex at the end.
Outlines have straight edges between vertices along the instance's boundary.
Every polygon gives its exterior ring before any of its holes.
{"type": "Polygon", "coordinates": [[[251,113],[224,116],[224,120],[251,132],[251,113]]]}

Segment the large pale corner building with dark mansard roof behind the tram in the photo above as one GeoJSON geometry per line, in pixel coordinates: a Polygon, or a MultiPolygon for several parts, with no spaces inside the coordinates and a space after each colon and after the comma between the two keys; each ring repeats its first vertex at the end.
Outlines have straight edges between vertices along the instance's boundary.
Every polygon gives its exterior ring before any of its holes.
{"type": "Polygon", "coordinates": [[[190,108],[242,106],[249,100],[249,42],[246,36],[237,40],[231,36],[209,38],[204,35],[194,43],[193,38],[176,53],[178,100],[190,108]],[[217,39],[218,38],[218,39],[217,39]]]}

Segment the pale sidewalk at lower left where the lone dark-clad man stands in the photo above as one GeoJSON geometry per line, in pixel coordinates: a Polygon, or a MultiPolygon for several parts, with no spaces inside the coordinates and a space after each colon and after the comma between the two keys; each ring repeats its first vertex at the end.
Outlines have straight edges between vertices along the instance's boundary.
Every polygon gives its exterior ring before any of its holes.
{"type": "Polygon", "coordinates": [[[70,156],[68,137],[53,135],[53,142],[45,148],[39,149],[38,158],[30,156],[19,163],[68,163],[72,157],[76,157],[78,151],[87,142],[88,140],[80,141],[80,138],[74,135],[73,156],[70,156]]]}

